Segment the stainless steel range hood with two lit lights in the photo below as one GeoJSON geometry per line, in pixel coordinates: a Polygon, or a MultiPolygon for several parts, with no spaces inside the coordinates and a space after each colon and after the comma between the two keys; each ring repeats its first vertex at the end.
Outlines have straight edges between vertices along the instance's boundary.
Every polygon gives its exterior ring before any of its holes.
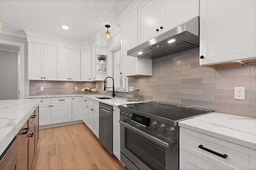
{"type": "Polygon", "coordinates": [[[199,16],[196,16],[176,28],[128,50],[127,55],[146,59],[157,59],[198,47],[199,16]]]}

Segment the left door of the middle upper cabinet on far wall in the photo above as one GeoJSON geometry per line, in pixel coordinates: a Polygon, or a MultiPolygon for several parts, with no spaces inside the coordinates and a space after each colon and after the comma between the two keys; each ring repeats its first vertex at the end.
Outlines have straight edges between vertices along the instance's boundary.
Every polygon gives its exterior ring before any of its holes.
{"type": "Polygon", "coordinates": [[[58,47],[57,80],[69,81],[69,49],[58,47]]]}

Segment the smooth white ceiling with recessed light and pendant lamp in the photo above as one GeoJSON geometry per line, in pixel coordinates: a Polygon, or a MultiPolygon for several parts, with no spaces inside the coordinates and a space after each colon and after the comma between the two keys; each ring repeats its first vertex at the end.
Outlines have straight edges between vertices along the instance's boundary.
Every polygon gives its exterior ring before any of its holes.
{"type": "Polygon", "coordinates": [[[0,0],[4,30],[23,29],[87,42],[92,35],[114,32],[116,18],[130,0],[0,0]],[[62,26],[68,26],[64,30],[62,26]]]}

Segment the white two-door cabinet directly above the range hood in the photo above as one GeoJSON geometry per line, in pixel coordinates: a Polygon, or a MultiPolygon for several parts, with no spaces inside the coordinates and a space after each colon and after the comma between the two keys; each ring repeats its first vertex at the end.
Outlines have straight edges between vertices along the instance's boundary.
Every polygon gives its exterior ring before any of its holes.
{"type": "Polygon", "coordinates": [[[145,0],[138,6],[138,44],[199,16],[199,0],[145,0]]]}

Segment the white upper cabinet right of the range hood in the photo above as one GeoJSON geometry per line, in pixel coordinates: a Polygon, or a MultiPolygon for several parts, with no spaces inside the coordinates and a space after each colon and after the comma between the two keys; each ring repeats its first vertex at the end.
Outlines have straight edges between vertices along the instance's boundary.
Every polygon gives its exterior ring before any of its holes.
{"type": "Polygon", "coordinates": [[[255,9],[255,0],[200,1],[200,65],[256,58],[255,9]]]}

